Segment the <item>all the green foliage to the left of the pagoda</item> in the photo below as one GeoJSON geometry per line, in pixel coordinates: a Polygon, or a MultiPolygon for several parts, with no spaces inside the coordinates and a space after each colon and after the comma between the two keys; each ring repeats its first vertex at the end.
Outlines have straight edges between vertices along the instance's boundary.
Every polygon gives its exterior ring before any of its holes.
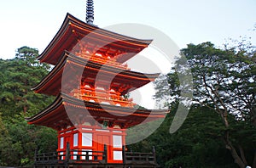
{"type": "Polygon", "coordinates": [[[49,66],[40,64],[37,56],[37,49],[23,47],[15,59],[0,59],[0,166],[32,166],[36,149],[57,147],[55,131],[25,121],[53,101],[31,90],[49,73],[49,66]]]}

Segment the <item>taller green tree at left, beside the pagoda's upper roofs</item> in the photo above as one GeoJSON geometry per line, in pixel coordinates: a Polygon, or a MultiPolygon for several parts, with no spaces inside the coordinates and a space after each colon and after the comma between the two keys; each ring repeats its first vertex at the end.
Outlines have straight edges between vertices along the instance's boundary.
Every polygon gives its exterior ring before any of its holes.
{"type": "Polygon", "coordinates": [[[0,103],[3,108],[13,107],[12,115],[19,114],[20,111],[35,114],[52,101],[52,98],[31,90],[47,75],[50,68],[49,65],[40,64],[36,60],[37,56],[37,49],[23,47],[18,49],[15,59],[0,62],[0,103]]]}

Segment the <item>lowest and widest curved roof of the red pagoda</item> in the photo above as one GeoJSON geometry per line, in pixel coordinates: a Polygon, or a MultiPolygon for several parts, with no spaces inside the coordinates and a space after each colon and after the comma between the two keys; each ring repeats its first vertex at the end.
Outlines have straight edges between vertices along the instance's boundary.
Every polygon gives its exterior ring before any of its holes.
{"type": "Polygon", "coordinates": [[[128,128],[142,122],[164,118],[166,113],[168,113],[167,110],[160,109],[135,109],[96,104],[61,93],[49,107],[26,120],[29,124],[48,126],[55,130],[84,124],[84,122],[94,125],[96,121],[100,124],[108,121],[110,127],[117,125],[121,128],[128,128]]]}

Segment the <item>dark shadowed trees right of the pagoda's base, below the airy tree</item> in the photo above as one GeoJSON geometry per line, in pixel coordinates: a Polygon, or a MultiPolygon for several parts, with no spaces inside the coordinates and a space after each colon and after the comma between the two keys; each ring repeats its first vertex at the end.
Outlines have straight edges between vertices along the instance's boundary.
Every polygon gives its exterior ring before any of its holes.
{"type": "Polygon", "coordinates": [[[175,108],[171,109],[171,113],[154,134],[140,143],[130,145],[130,148],[150,152],[154,146],[160,167],[236,167],[222,143],[225,127],[214,110],[193,107],[183,126],[170,134],[169,127],[175,111],[175,108]]]}

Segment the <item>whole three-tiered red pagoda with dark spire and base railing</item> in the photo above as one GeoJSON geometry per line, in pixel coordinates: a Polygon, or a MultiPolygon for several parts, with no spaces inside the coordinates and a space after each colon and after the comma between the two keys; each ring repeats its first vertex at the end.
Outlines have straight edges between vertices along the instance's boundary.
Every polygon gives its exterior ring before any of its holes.
{"type": "Polygon", "coordinates": [[[160,75],[132,71],[125,64],[152,40],[101,29],[93,20],[93,1],[88,0],[86,23],[67,14],[38,57],[54,68],[32,90],[56,98],[26,120],[55,129],[58,149],[36,154],[35,167],[156,167],[154,151],[125,148],[126,129],[167,113],[137,108],[125,96],[160,75]]]}

